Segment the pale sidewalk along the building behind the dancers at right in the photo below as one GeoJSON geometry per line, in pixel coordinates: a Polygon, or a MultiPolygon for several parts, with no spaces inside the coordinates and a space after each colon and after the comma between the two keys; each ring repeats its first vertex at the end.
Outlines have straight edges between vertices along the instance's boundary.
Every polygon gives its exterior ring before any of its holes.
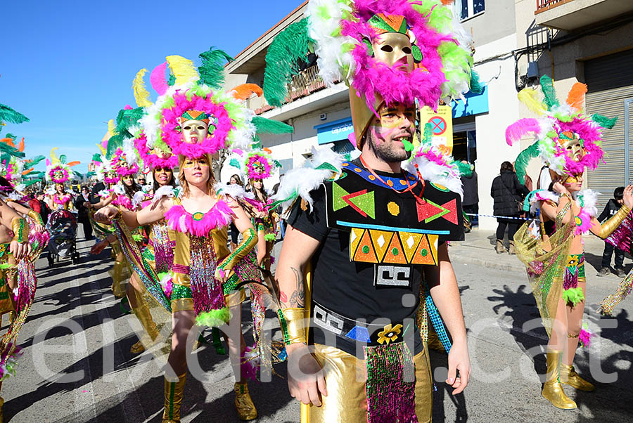
{"type": "MultiPolygon", "coordinates": [[[[587,275],[595,276],[601,267],[604,241],[594,235],[585,235],[582,238],[584,240],[584,252],[587,262],[587,275]]],[[[470,233],[466,234],[465,240],[451,242],[451,247],[449,248],[451,260],[501,271],[525,271],[525,266],[516,256],[511,256],[508,253],[497,254],[494,251],[495,241],[494,230],[474,228],[470,233]]],[[[611,266],[613,266],[613,260],[611,261],[611,266]]],[[[625,259],[625,271],[630,271],[632,267],[631,261],[625,259]]],[[[604,276],[603,279],[619,280],[613,272],[604,276]]]]}

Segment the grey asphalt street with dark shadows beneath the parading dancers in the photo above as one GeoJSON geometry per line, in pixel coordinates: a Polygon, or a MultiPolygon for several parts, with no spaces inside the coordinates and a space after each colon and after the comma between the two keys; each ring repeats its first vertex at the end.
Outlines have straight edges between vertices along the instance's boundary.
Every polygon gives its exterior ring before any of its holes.
{"type": "MultiPolygon", "coordinates": [[[[615,275],[596,277],[602,243],[585,244],[585,321],[596,336],[589,350],[578,351],[575,362],[580,375],[596,381],[596,391],[565,386],[578,409],[558,410],[540,396],[546,334],[525,271],[516,257],[492,251],[491,235],[474,230],[449,249],[461,289],[473,374],[465,393],[452,396],[443,383],[447,356],[431,352],[437,386],[433,421],[632,422],[633,301],[620,304],[614,318],[596,315],[596,303],[619,282],[615,275]]],[[[110,290],[109,253],[90,256],[92,243],[82,241],[81,234],[79,240],[82,259],[76,266],[63,261],[47,268],[45,259],[37,263],[37,296],[18,339],[23,356],[17,375],[2,384],[4,421],[160,422],[160,363],[151,360],[151,353],[129,352],[137,340],[137,320],[124,314],[110,290]]],[[[628,259],[625,265],[627,271],[632,267],[628,259]]],[[[6,317],[3,323],[4,331],[6,317]]],[[[250,331],[248,313],[243,325],[250,331]]],[[[205,336],[210,338],[208,331],[205,336]]],[[[207,379],[188,377],[182,422],[238,422],[228,357],[217,355],[209,344],[195,353],[207,379]]],[[[277,369],[281,376],[284,367],[277,369]]],[[[299,405],[288,395],[282,377],[251,383],[250,392],[258,422],[299,421],[299,405]]]]}

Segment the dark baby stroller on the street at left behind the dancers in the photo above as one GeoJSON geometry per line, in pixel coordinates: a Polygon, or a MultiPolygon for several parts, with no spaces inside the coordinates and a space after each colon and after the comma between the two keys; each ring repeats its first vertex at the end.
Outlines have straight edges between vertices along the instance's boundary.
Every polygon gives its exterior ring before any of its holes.
{"type": "Polygon", "coordinates": [[[46,223],[46,229],[49,230],[51,239],[49,240],[49,266],[53,266],[55,258],[68,259],[73,264],[79,262],[79,253],[77,252],[77,218],[68,210],[56,210],[49,215],[49,223],[46,223]]]}

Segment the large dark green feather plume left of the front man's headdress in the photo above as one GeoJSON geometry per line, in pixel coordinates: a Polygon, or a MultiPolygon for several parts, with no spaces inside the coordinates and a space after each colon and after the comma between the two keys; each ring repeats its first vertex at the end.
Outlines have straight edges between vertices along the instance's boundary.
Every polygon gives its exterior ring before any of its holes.
{"type": "Polygon", "coordinates": [[[299,72],[298,60],[305,58],[314,43],[307,31],[307,18],[283,30],[268,48],[264,71],[264,97],[269,105],[286,102],[288,83],[299,72]]]}

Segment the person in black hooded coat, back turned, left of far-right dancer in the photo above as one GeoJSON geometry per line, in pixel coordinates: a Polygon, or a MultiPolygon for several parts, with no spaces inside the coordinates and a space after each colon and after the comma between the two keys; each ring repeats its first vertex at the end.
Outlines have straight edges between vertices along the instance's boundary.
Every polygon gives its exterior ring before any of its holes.
{"type": "Polygon", "coordinates": [[[499,176],[492,181],[490,195],[494,199],[493,213],[495,216],[507,216],[497,218],[499,226],[497,226],[497,254],[508,251],[510,254],[516,254],[514,249],[514,233],[518,230],[518,218],[522,213],[523,199],[528,195],[530,190],[518,181],[514,167],[511,162],[501,163],[499,176]],[[521,207],[521,209],[519,209],[521,207]],[[508,239],[510,241],[509,249],[504,246],[504,234],[508,228],[508,239]]]}

